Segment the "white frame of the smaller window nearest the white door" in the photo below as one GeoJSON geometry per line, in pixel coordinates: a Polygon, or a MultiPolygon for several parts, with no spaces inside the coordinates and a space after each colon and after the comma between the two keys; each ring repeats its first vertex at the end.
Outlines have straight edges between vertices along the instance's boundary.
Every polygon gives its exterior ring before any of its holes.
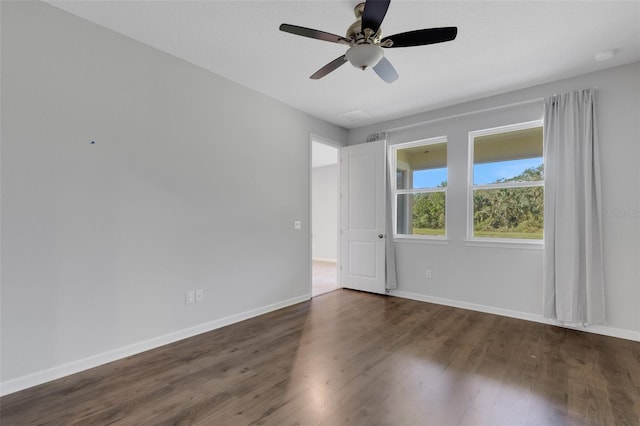
{"type": "MultiPolygon", "coordinates": [[[[443,188],[416,188],[416,189],[398,189],[397,188],[397,171],[398,171],[398,156],[397,152],[401,149],[406,148],[415,148],[419,146],[429,146],[435,144],[446,144],[447,147],[447,183],[449,182],[449,140],[447,136],[436,136],[427,139],[420,139],[411,142],[402,142],[395,145],[389,146],[389,159],[391,162],[391,170],[392,170],[392,182],[391,182],[391,215],[393,218],[392,226],[393,226],[393,239],[394,240],[419,240],[419,241],[432,241],[432,242],[443,242],[448,241],[448,210],[447,205],[449,204],[448,200],[448,184],[443,188]],[[398,195],[407,194],[428,194],[435,192],[444,192],[444,235],[416,235],[416,234],[398,234],[398,195]]],[[[406,169],[402,169],[403,171],[407,171],[406,169]]],[[[391,177],[391,176],[390,176],[391,177]]]]}

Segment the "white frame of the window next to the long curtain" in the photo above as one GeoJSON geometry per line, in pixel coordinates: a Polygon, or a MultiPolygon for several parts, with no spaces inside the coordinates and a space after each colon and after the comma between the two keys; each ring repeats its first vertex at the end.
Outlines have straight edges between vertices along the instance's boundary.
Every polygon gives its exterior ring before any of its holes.
{"type": "MultiPolygon", "coordinates": [[[[541,239],[525,239],[525,238],[492,238],[492,237],[476,237],[473,232],[474,218],[474,199],[473,194],[478,189],[509,189],[509,188],[530,188],[541,186],[544,191],[545,180],[541,181],[524,181],[524,182],[504,182],[493,184],[473,184],[473,166],[474,163],[474,147],[475,138],[478,136],[488,136],[500,133],[513,132],[518,130],[526,130],[541,127],[544,133],[544,121],[542,119],[526,121],[516,124],[508,124],[505,126],[492,127],[488,129],[474,130],[469,132],[468,142],[468,171],[467,171],[467,245],[478,246],[502,246],[502,247],[522,247],[522,248],[542,248],[544,246],[544,236],[541,239]]],[[[544,143],[544,142],[543,142],[544,143]]],[[[542,154],[542,164],[545,164],[544,145],[542,154]]],[[[543,213],[544,214],[544,213],[543,213]]],[[[543,217],[544,220],[544,217],[543,217]]]]}

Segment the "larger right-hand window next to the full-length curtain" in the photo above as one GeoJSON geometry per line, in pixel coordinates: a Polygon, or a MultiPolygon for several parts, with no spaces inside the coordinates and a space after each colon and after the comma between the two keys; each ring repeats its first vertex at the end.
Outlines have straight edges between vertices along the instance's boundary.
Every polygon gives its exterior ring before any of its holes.
{"type": "Polygon", "coordinates": [[[542,240],[542,121],[469,134],[469,237],[542,240]]]}

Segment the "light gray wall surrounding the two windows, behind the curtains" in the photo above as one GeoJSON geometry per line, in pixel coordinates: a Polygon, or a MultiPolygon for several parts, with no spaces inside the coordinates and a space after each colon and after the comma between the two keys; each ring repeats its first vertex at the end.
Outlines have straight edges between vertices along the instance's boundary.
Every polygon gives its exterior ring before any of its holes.
{"type": "Polygon", "coordinates": [[[468,132],[542,118],[541,101],[597,87],[608,322],[596,332],[640,340],[640,64],[354,129],[349,143],[388,130],[391,144],[446,135],[448,244],[396,241],[396,294],[532,320],[542,315],[542,251],[465,242],[468,132]],[[520,103],[520,104],[518,104],[520,103]],[[516,105],[513,105],[516,104],[516,105]],[[512,105],[510,107],[505,107],[512,105]],[[474,112],[483,111],[483,112],[474,112]],[[623,216],[616,216],[619,212],[623,216]],[[627,212],[627,213],[624,213],[627,212]],[[425,269],[433,278],[424,278],[425,269]]]}

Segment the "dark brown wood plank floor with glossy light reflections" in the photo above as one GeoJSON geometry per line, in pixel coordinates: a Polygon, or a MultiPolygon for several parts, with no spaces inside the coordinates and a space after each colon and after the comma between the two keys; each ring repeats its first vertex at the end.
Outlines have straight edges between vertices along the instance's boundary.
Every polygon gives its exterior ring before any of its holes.
{"type": "Polygon", "coordinates": [[[640,343],[338,290],[0,399],[8,425],[639,425],[640,343]]]}

